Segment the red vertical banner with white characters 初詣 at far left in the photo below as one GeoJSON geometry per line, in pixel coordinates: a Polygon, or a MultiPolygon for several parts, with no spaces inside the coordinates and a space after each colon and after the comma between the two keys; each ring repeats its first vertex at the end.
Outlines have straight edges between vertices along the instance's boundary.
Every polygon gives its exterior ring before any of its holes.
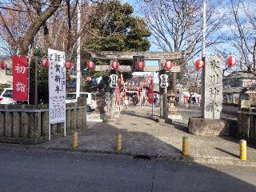
{"type": "Polygon", "coordinates": [[[13,56],[13,98],[15,101],[28,100],[28,68],[26,56],[13,56]]]}

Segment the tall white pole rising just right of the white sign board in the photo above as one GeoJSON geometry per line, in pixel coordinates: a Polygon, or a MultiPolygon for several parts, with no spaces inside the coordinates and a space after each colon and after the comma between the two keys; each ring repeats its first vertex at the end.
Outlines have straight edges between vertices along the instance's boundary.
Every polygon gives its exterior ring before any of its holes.
{"type": "Polygon", "coordinates": [[[78,101],[78,97],[80,94],[80,84],[81,84],[81,58],[80,58],[80,28],[81,28],[81,7],[82,1],[78,0],[78,42],[77,42],[77,88],[76,88],[76,99],[78,101]]]}

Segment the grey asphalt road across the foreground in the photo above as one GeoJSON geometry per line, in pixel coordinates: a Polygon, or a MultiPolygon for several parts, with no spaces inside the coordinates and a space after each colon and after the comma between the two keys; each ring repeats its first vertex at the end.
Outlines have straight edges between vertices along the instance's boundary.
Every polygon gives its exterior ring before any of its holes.
{"type": "Polygon", "coordinates": [[[256,168],[0,148],[0,191],[256,191],[256,168]]]}

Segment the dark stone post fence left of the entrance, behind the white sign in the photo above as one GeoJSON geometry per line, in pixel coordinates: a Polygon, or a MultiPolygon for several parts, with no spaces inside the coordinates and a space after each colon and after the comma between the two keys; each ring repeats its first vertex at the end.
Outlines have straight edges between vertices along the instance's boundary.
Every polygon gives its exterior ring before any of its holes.
{"type": "MultiPolygon", "coordinates": [[[[66,104],[66,134],[86,130],[86,100],[66,104]]],[[[52,124],[51,138],[64,135],[64,122],[52,124]]],[[[0,105],[0,142],[37,144],[49,140],[47,105],[0,105]]]]}

